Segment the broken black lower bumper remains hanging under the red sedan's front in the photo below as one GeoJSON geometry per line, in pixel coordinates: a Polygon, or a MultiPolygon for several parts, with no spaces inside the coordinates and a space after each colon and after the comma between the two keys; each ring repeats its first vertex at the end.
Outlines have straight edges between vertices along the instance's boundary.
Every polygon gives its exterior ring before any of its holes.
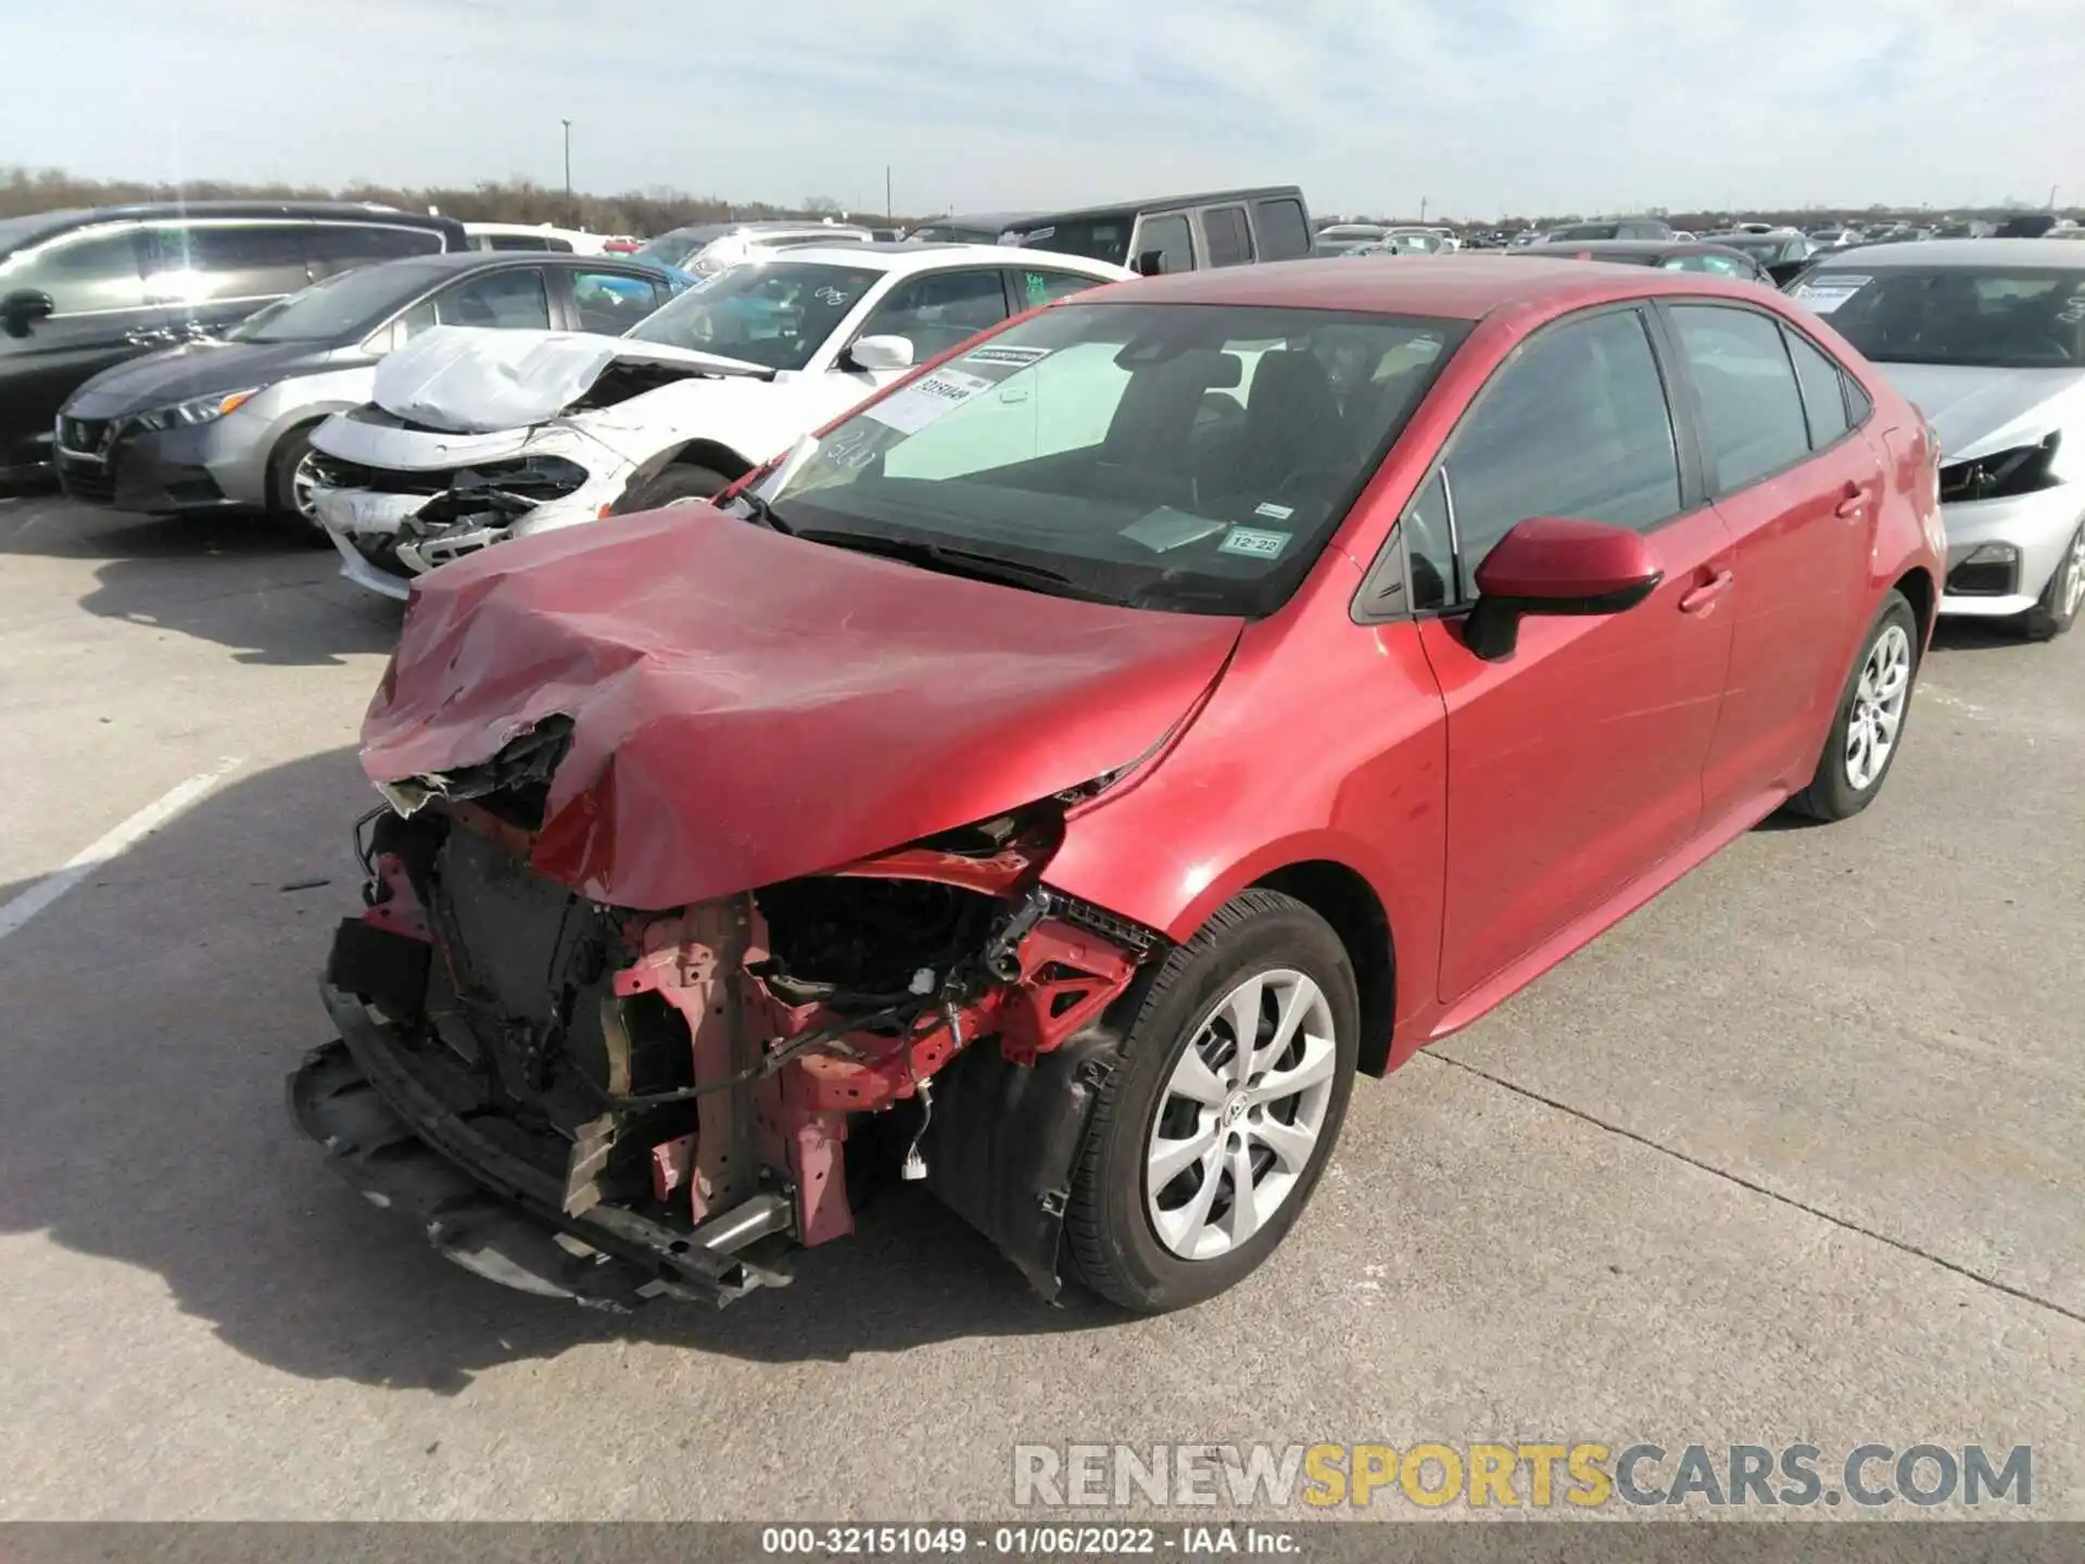
{"type": "Polygon", "coordinates": [[[567,1216],[555,1178],[473,1130],[411,1074],[390,1026],[338,988],[321,993],[340,1041],[290,1074],[292,1120],[365,1199],[413,1220],[465,1270],[611,1312],[648,1297],[723,1305],[788,1285],[769,1253],[786,1247],[792,1224],[784,1191],[759,1191],[688,1230],[613,1205],[567,1216]]]}

